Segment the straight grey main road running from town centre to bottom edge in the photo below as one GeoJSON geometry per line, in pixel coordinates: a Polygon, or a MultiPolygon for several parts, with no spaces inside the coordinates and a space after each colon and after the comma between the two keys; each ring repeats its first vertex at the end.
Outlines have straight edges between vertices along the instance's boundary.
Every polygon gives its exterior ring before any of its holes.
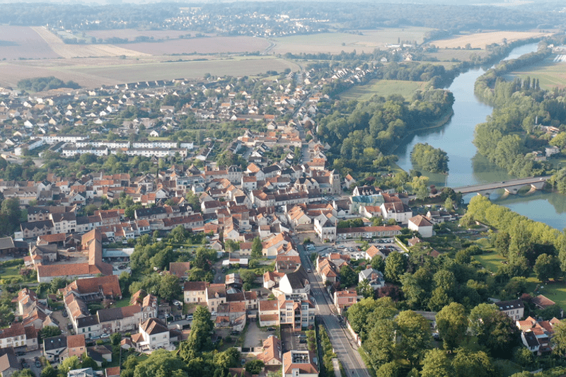
{"type": "MultiPolygon", "coordinates": [[[[314,273],[315,268],[311,264],[304,246],[299,243],[299,239],[296,236],[293,236],[293,240],[301,255],[303,266],[305,269],[310,268],[312,271],[308,274],[308,277],[311,282],[311,296],[316,301],[316,313],[323,320],[330,342],[332,342],[334,351],[342,362],[342,366],[344,366],[346,375],[348,377],[371,377],[364,361],[362,361],[362,357],[359,356],[357,344],[355,344],[353,337],[338,321],[337,315],[333,311],[333,301],[330,299],[330,295],[318,275],[314,273]]],[[[330,373],[330,376],[332,376],[332,373],[330,373]]]]}

